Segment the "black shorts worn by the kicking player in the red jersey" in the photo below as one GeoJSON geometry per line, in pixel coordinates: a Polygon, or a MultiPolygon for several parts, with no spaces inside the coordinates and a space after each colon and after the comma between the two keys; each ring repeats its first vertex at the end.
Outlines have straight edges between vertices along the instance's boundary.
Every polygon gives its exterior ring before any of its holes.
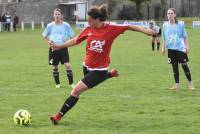
{"type": "Polygon", "coordinates": [[[84,78],[81,80],[88,88],[93,88],[109,78],[108,70],[88,70],[83,66],[84,78]]]}

